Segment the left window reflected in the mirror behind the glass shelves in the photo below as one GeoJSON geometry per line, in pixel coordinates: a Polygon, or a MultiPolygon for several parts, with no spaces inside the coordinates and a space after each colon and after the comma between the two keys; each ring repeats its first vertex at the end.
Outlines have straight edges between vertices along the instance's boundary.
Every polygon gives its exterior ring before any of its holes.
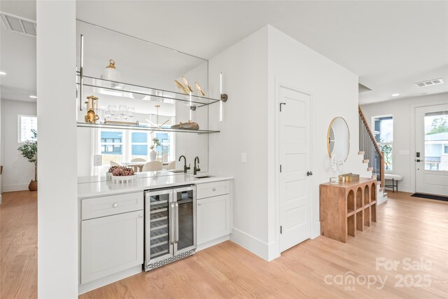
{"type": "Polygon", "coordinates": [[[124,162],[123,135],[122,131],[101,132],[100,150],[103,155],[103,165],[109,165],[110,161],[124,162]]]}

